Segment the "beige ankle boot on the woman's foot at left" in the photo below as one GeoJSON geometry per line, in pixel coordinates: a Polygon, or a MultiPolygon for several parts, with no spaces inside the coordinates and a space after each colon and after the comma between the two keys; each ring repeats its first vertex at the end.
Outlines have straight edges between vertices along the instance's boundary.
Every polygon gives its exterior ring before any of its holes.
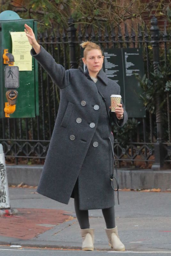
{"type": "Polygon", "coordinates": [[[81,229],[82,236],[82,250],[93,251],[94,250],[94,228],[81,229]]]}

